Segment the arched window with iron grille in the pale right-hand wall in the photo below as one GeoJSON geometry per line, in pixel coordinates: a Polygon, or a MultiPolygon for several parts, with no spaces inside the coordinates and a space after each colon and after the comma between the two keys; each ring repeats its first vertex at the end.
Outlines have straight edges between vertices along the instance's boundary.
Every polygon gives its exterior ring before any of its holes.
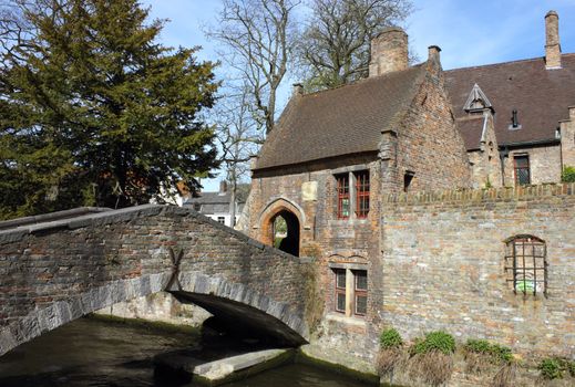
{"type": "Polygon", "coordinates": [[[506,281],[515,293],[547,292],[547,247],[533,236],[513,237],[506,242],[506,281]]]}

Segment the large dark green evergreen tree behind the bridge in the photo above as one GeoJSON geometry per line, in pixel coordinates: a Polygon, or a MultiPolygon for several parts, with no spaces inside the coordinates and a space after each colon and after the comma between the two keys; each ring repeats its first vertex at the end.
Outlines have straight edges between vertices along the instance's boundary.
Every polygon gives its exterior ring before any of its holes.
{"type": "Polygon", "coordinates": [[[10,0],[0,34],[0,218],[160,199],[217,166],[213,64],[156,42],[137,0],[10,0]],[[19,22],[27,27],[20,35],[19,22]]]}

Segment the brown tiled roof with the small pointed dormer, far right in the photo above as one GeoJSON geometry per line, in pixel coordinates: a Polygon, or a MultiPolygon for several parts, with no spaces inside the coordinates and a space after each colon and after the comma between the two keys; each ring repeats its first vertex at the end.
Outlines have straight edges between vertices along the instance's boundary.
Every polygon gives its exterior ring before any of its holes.
{"type": "Polygon", "coordinates": [[[546,70],[544,59],[537,57],[445,71],[456,118],[468,115],[464,105],[474,84],[493,106],[500,146],[551,143],[556,140],[558,122],[568,118],[567,107],[575,105],[575,54],[563,54],[557,70],[546,70]],[[513,109],[517,109],[521,128],[510,130],[513,109]]]}

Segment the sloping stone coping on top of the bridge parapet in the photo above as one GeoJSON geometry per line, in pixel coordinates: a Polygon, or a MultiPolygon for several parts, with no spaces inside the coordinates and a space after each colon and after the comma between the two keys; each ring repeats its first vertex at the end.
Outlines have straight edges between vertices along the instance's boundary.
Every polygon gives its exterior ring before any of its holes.
{"type": "MultiPolygon", "coordinates": [[[[288,254],[287,252],[284,252],[281,250],[275,249],[273,247],[266,245],[255,239],[249,238],[245,233],[234,230],[225,224],[222,224],[206,216],[203,216],[202,213],[195,211],[193,208],[188,207],[177,207],[177,206],[171,206],[171,205],[143,205],[143,206],[135,206],[135,207],[127,207],[120,210],[112,210],[112,209],[102,209],[100,208],[100,211],[93,211],[86,213],[85,209],[95,209],[95,208],[89,208],[89,207],[81,207],[73,210],[65,211],[68,213],[68,217],[62,219],[61,216],[58,217],[47,217],[48,215],[41,215],[37,217],[29,217],[29,218],[35,218],[35,219],[45,219],[47,221],[38,222],[38,223],[29,223],[29,222],[22,222],[22,226],[17,226],[16,228],[9,229],[9,230],[0,230],[0,244],[7,244],[12,242],[21,241],[25,236],[33,234],[33,233],[45,233],[45,232],[58,232],[60,230],[74,230],[79,228],[88,228],[88,227],[102,227],[105,224],[112,224],[112,223],[122,223],[127,222],[130,220],[136,219],[136,218],[145,218],[145,217],[154,217],[158,215],[175,215],[175,216],[182,216],[182,217],[193,217],[202,220],[205,223],[209,223],[212,227],[219,229],[222,231],[225,231],[237,239],[246,242],[247,244],[258,248],[260,250],[265,250],[269,253],[274,254],[280,254],[286,258],[295,259],[298,261],[300,260],[298,257],[288,254]],[[72,217],[73,213],[78,213],[78,216],[72,217]],[[57,220],[52,220],[57,218],[57,220]]],[[[64,211],[60,211],[64,212],[64,211]]],[[[57,212],[58,213],[58,212],[57,212]]],[[[22,218],[25,219],[25,218],[22,218]]],[[[19,219],[10,220],[10,222],[13,222],[17,224],[19,219]]]]}

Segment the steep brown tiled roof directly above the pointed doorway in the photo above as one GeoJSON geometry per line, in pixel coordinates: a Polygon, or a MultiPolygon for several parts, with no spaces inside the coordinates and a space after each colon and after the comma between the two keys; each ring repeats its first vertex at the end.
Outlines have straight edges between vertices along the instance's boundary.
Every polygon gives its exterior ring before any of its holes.
{"type": "Polygon", "coordinates": [[[424,74],[425,63],[292,97],[261,147],[256,169],[379,150],[381,130],[398,124],[424,74]]]}

